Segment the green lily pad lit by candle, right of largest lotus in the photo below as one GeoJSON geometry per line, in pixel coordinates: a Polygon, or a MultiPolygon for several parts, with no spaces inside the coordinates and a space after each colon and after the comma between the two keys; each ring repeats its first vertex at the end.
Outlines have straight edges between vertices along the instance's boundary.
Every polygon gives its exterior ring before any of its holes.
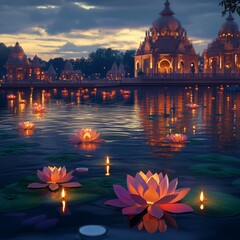
{"type": "Polygon", "coordinates": [[[184,198],[184,203],[190,205],[195,214],[210,217],[231,217],[240,214],[240,199],[231,194],[204,189],[205,200],[203,209],[200,209],[200,191],[191,190],[184,198]]]}

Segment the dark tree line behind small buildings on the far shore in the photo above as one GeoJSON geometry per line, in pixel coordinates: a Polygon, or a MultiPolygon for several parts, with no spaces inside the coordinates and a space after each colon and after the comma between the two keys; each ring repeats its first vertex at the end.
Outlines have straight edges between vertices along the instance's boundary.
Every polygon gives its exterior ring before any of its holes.
{"type": "MultiPolygon", "coordinates": [[[[11,53],[12,47],[7,47],[4,43],[0,43],[0,75],[6,75],[7,69],[5,67],[8,57],[11,53]]],[[[129,77],[134,76],[134,55],[135,50],[126,50],[125,52],[113,50],[111,48],[99,48],[95,52],[91,52],[87,58],[81,57],[77,59],[63,59],[53,58],[49,61],[40,59],[43,64],[44,71],[47,71],[52,64],[57,75],[59,76],[64,69],[67,60],[70,60],[73,70],[81,70],[82,74],[86,77],[98,75],[103,78],[111,69],[114,62],[119,66],[123,63],[126,75],[129,77]]],[[[32,60],[29,59],[31,62],[32,60]]]]}

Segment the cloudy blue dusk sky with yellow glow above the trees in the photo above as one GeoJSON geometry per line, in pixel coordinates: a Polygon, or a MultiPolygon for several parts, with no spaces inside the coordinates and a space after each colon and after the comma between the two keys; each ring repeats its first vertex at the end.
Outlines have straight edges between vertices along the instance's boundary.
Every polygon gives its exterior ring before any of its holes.
{"type": "MultiPolygon", "coordinates": [[[[225,21],[220,0],[170,0],[197,53],[225,21]]],[[[137,49],[165,0],[0,0],[0,42],[28,57],[87,57],[97,48],[137,49]]],[[[234,15],[239,23],[239,16],[234,15]]]]}

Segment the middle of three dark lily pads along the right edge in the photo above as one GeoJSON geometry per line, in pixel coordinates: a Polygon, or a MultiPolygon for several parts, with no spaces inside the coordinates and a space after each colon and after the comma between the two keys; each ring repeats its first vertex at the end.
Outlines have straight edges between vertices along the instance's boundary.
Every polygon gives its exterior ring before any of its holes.
{"type": "Polygon", "coordinates": [[[215,177],[240,176],[239,169],[215,163],[195,164],[190,167],[190,170],[198,174],[215,177]]]}

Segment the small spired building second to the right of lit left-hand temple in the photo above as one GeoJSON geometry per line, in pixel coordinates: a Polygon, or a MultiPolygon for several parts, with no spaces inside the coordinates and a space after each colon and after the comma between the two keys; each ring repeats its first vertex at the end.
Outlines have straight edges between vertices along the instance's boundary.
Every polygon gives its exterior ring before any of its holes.
{"type": "Polygon", "coordinates": [[[73,70],[72,63],[67,60],[60,76],[61,80],[78,82],[83,80],[83,74],[80,70],[73,70]]]}

